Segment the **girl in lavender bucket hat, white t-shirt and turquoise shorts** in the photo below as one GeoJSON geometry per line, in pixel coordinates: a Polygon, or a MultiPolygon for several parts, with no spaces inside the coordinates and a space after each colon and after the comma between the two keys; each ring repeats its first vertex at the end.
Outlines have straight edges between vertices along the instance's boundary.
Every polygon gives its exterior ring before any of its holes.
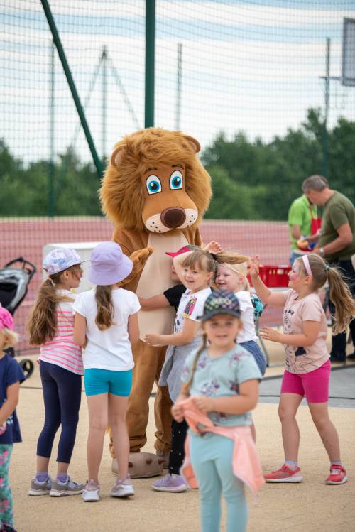
{"type": "Polygon", "coordinates": [[[77,296],[74,339],[84,347],[84,384],[89,408],[87,440],[88,480],[84,501],[99,501],[99,466],[104,433],[111,427],[120,478],[111,496],[134,495],[128,474],[129,435],[126,409],[134,366],[131,342],[139,337],[138,310],[133,292],[118,284],[132,270],[132,261],[115,242],[102,242],[92,250],[89,281],[97,285],[77,296]]]}

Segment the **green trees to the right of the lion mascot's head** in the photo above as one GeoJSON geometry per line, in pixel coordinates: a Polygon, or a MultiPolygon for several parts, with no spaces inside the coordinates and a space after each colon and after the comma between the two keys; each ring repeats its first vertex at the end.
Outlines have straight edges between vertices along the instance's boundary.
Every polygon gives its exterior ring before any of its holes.
{"type": "MultiPolygon", "coordinates": [[[[340,118],[328,131],[327,178],[331,188],[353,202],[354,145],[355,123],[340,118]]],[[[291,202],[302,194],[302,181],[322,173],[323,150],[320,109],[310,109],[299,129],[288,129],[270,143],[251,142],[243,133],[228,141],[224,133],[219,134],[202,154],[214,192],[207,217],[287,219],[291,202]]]]}

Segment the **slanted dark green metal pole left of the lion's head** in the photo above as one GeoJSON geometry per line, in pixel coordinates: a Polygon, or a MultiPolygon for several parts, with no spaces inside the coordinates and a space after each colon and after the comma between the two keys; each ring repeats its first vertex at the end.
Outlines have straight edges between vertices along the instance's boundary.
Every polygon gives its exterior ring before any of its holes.
{"type": "Polygon", "coordinates": [[[82,104],[80,103],[79,94],[77,94],[77,87],[75,87],[75,83],[72,78],[72,72],[70,72],[70,67],[67,63],[67,58],[65,57],[65,52],[62,47],[62,43],[60,42],[60,37],[57,31],[57,28],[55,26],[55,21],[54,21],[52,12],[50,11],[50,6],[48,5],[47,0],[40,0],[40,3],[43,6],[45,17],[47,18],[48,25],[50,27],[50,31],[53,36],[53,41],[55,43],[55,47],[58,50],[60,62],[62,63],[62,67],[65,72],[65,77],[67,78],[67,84],[69,85],[70,92],[72,93],[72,99],[74,100],[75,107],[77,108],[77,114],[79,115],[80,122],[82,123],[82,129],[84,130],[84,134],[86,136],[87,143],[89,145],[89,150],[92,154],[92,159],[94,161],[94,165],[97,170],[97,175],[99,176],[99,178],[102,178],[102,173],[103,173],[102,162],[100,161],[99,156],[97,155],[94,141],[92,139],[92,134],[89,130],[89,125],[87,124],[87,119],[85,117],[84,110],[82,109],[82,104]]]}

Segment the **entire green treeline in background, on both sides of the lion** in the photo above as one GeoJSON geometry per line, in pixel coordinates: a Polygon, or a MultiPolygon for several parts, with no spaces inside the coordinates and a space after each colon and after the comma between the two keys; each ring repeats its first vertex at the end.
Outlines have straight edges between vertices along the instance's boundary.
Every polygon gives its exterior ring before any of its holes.
{"type": "MultiPolygon", "coordinates": [[[[328,131],[327,178],[331,188],[355,202],[355,123],[339,118],[328,131]]],[[[310,109],[298,129],[275,136],[269,143],[249,141],[239,132],[228,140],[217,135],[202,153],[212,176],[212,219],[287,219],[288,207],[301,195],[302,181],[322,173],[324,122],[319,109],[310,109]]],[[[91,164],[72,149],[58,158],[24,167],[0,139],[0,216],[47,216],[53,175],[54,214],[100,215],[99,180],[91,164]],[[52,173],[51,173],[52,170],[52,173]]]]}

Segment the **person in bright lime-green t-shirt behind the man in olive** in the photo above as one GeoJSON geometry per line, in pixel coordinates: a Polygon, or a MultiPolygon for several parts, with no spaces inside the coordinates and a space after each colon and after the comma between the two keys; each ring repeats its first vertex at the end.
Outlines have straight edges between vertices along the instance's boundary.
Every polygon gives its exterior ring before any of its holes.
{"type": "Polygon", "coordinates": [[[297,247],[297,240],[312,234],[312,218],[317,218],[317,205],[313,205],[305,194],[297,197],[288,210],[288,227],[290,228],[290,265],[297,257],[304,254],[297,247]]]}

